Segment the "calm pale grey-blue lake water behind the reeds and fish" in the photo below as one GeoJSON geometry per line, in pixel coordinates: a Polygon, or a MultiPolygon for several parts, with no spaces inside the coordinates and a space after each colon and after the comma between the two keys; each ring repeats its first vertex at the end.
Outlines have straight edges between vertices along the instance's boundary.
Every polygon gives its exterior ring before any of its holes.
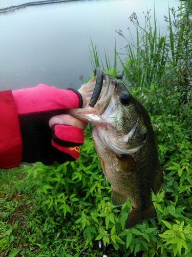
{"type": "MultiPolygon", "coordinates": [[[[3,3],[2,3],[3,2],[3,3]]],[[[32,2],[7,0],[0,8],[32,2]]],[[[152,9],[157,24],[167,27],[164,15],[168,6],[179,0],[91,0],[29,6],[0,14],[0,90],[18,89],[44,83],[59,88],[79,88],[79,77],[88,79],[93,71],[90,62],[90,37],[104,61],[104,47],[113,63],[117,50],[126,45],[115,30],[129,37],[135,30],[128,17],[136,12],[140,23],[143,11],[152,9]]],[[[119,63],[120,67],[120,63],[119,63]]]]}

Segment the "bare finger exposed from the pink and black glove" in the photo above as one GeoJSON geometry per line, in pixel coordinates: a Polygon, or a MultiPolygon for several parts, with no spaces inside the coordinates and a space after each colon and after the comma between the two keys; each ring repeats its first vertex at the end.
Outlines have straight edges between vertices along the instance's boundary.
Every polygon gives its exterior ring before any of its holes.
{"type": "Polygon", "coordinates": [[[52,117],[49,121],[49,126],[52,127],[52,125],[55,123],[79,127],[81,128],[81,130],[84,130],[87,127],[87,122],[78,120],[68,114],[62,114],[52,117]]]}

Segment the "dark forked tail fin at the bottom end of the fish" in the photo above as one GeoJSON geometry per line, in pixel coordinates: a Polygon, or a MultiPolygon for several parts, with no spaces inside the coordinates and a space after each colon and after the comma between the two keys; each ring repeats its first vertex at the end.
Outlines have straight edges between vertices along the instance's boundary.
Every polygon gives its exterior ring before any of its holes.
{"type": "Polygon", "coordinates": [[[132,207],[125,223],[125,229],[132,228],[137,224],[139,224],[140,222],[145,221],[146,219],[156,218],[156,217],[157,217],[157,212],[155,210],[155,207],[152,201],[148,206],[148,208],[143,211],[134,209],[132,207]]]}

